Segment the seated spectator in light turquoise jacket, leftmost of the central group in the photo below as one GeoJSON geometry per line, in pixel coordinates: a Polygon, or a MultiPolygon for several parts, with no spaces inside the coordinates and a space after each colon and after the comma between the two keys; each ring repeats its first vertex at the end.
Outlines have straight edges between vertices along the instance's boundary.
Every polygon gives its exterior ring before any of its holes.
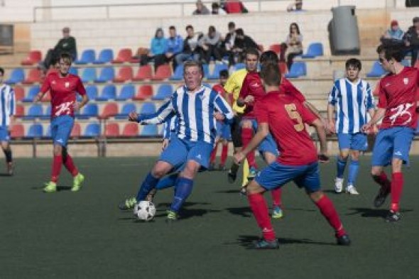
{"type": "Polygon", "coordinates": [[[151,39],[150,52],[140,57],[140,65],[147,65],[148,62],[154,60],[154,68],[166,62],[165,53],[168,50],[168,40],[164,38],[163,29],[157,28],[154,38],[151,39]]]}

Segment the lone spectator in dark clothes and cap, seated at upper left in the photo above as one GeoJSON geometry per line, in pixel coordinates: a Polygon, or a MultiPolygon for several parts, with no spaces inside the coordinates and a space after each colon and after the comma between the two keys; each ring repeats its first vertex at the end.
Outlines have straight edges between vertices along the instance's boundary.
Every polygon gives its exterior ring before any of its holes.
{"type": "Polygon", "coordinates": [[[76,39],[70,35],[70,28],[62,28],[62,38],[53,49],[48,50],[45,60],[40,62],[39,67],[46,72],[51,66],[55,65],[61,53],[69,53],[72,60],[77,59],[76,39]]]}

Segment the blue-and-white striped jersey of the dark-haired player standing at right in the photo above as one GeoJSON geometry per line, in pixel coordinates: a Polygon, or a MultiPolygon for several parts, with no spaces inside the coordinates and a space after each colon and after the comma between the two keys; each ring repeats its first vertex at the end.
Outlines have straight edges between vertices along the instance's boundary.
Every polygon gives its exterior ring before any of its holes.
{"type": "Polygon", "coordinates": [[[337,133],[359,133],[369,121],[368,110],[375,107],[369,83],[361,79],[352,83],[347,78],[334,82],[329,104],[335,107],[337,133]]]}

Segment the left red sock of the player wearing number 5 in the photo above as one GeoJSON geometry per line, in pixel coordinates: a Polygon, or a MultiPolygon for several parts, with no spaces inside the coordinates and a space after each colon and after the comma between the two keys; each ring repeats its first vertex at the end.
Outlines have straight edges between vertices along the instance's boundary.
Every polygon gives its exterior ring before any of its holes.
{"type": "Polygon", "coordinates": [[[275,231],[273,231],[271,219],[269,219],[268,204],[261,193],[251,194],[247,196],[251,211],[254,214],[259,228],[262,229],[263,238],[267,241],[273,241],[275,231]]]}

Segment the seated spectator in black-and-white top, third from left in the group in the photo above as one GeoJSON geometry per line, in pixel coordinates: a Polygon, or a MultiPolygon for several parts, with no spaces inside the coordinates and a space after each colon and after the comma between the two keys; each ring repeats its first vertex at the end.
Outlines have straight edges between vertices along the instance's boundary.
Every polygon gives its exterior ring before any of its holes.
{"type": "Polygon", "coordinates": [[[186,26],[186,33],[187,36],[183,40],[183,51],[175,57],[176,65],[183,65],[186,60],[200,62],[200,54],[202,53],[200,43],[203,35],[201,32],[195,33],[191,25],[186,26]]]}

